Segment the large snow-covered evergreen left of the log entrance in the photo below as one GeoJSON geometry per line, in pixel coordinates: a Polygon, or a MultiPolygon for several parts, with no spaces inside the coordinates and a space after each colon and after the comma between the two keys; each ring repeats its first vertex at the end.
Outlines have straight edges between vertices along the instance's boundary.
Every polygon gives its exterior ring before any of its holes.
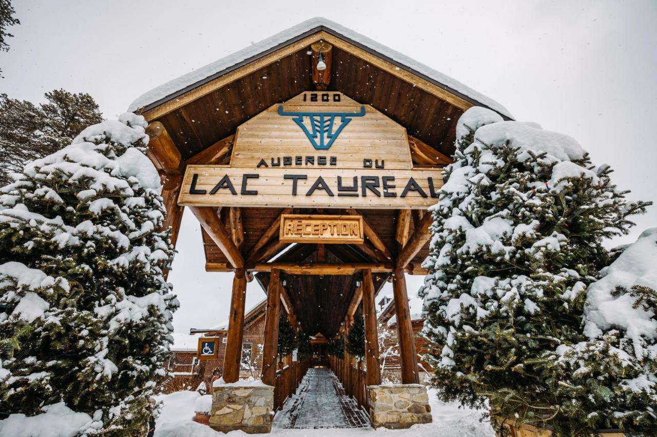
{"type": "Polygon", "coordinates": [[[143,435],[178,303],[147,123],[121,115],[26,165],[0,196],[0,411],[64,402],[87,434],[143,435]]]}

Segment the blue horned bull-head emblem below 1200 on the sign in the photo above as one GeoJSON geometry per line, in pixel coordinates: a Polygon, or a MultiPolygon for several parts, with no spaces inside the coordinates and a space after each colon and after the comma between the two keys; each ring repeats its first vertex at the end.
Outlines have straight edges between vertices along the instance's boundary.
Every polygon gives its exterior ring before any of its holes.
{"type": "Polygon", "coordinates": [[[304,131],[313,147],[317,150],[327,150],[351,118],[365,115],[365,106],[361,106],[360,112],[286,112],[281,105],[279,115],[294,117],[292,120],[304,131]],[[304,117],[308,117],[310,121],[310,130],[304,124],[304,117]],[[338,129],[335,129],[336,118],[340,119],[338,129]]]}

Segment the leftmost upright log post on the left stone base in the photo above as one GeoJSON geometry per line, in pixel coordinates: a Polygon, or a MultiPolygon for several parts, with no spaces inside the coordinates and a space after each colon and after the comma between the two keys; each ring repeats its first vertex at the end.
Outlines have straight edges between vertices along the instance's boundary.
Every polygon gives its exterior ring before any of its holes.
{"type": "Polygon", "coordinates": [[[236,383],[240,379],[240,360],[242,359],[242,337],[244,335],[244,301],[246,299],[246,273],[235,270],[233,278],[233,297],[228,320],[228,339],[223,358],[223,381],[236,383]]]}

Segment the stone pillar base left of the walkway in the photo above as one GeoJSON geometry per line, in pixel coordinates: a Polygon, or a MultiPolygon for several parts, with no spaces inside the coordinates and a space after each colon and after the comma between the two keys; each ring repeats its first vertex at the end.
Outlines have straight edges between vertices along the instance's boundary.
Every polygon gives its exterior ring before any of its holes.
{"type": "Polygon", "coordinates": [[[219,385],[212,389],[210,427],[221,432],[240,429],[248,434],[271,431],[274,388],[269,385],[219,385]]]}

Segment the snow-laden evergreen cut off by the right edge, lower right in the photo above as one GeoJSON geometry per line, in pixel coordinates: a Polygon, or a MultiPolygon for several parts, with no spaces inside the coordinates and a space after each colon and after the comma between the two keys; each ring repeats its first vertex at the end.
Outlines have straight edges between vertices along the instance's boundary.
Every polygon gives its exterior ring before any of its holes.
{"type": "Polygon", "coordinates": [[[657,435],[657,228],[646,230],[587,289],[585,341],[547,357],[559,390],[599,428],[657,435]]]}

